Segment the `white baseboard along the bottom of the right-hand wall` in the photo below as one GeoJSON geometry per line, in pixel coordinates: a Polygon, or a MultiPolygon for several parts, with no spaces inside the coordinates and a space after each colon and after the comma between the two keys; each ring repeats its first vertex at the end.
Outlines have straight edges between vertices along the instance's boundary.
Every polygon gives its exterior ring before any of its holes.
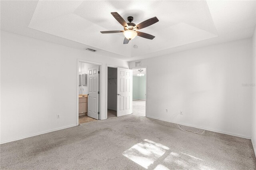
{"type": "MultiPolygon", "coordinates": [[[[160,119],[160,118],[152,117],[152,116],[146,116],[146,117],[152,118],[152,119],[157,119],[157,120],[160,120],[160,121],[175,123],[175,124],[176,124],[176,122],[174,122],[174,121],[169,121],[169,120],[166,120],[166,119],[160,119]]],[[[213,129],[209,129],[209,128],[205,128],[205,127],[198,127],[198,126],[194,126],[194,125],[190,125],[190,124],[186,124],[186,123],[180,123],[180,122],[179,122],[179,125],[185,125],[185,126],[190,126],[190,127],[194,127],[194,128],[200,128],[200,129],[203,129],[203,130],[212,131],[212,132],[217,132],[217,133],[222,133],[222,134],[228,134],[228,135],[236,136],[236,137],[240,137],[240,138],[251,139],[250,136],[244,136],[244,135],[241,135],[241,134],[234,134],[234,133],[230,133],[230,132],[223,132],[223,131],[213,130],[213,129]]],[[[255,151],[255,150],[254,150],[254,151],[255,151]]]]}

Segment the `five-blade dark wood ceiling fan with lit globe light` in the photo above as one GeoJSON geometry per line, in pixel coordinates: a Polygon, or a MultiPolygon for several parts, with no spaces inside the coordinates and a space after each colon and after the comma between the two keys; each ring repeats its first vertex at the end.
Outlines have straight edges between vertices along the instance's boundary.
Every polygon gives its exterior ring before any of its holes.
{"type": "Polygon", "coordinates": [[[124,30],[120,31],[101,31],[102,34],[110,34],[110,33],[124,33],[124,44],[128,44],[130,40],[134,39],[136,36],[140,36],[142,38],[147,38],[150,40],[153,40],[155,36],[152,36],[150,34],[144,33],[144,32],[138,32],[137,30],[140,30],[142,28],[146,28],[148,26],[151,26],[158,22],[159,20],[156,17],[150,18],[146,21],[141,22],[140,24],[134,24],[132,23],[133,17],[128,16],[127,20],[129,22],[126,23],[124,18],[122,18],[117,12],[111,12],[112,16],[116,18],[116,20],[124,27],[124,30]]]}

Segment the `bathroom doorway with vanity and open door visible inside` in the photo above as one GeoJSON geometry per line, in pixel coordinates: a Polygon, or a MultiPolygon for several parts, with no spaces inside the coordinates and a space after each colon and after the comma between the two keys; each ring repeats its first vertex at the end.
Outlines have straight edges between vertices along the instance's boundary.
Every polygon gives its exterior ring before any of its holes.
{"type": "Polygon", "coordinates": [[[97,121],[100,113],[100,65],[78,61],[77,124],[97,121]]]}

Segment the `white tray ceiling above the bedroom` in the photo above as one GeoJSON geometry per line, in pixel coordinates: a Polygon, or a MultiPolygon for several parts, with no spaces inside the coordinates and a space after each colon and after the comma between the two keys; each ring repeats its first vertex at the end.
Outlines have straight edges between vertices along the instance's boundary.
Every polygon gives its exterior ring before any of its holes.
{"type": "Polygon", "coordinates": [[[255,1],[1,1],[1,30],[127,61],[250,38],[255,24],[255,1]],[[101,34],[123,29],[110,12],[135,24],[156,16],[140,30],[156,38],[101,34]]]}

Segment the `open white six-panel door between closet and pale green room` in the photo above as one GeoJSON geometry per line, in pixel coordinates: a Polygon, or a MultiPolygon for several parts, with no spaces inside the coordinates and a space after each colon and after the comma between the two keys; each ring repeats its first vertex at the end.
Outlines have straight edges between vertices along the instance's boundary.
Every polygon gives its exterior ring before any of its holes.
{"type": "Polygon", "coordinates": [[[132,70],[117,68],[117,116],[132,113],[132,70]]]}

